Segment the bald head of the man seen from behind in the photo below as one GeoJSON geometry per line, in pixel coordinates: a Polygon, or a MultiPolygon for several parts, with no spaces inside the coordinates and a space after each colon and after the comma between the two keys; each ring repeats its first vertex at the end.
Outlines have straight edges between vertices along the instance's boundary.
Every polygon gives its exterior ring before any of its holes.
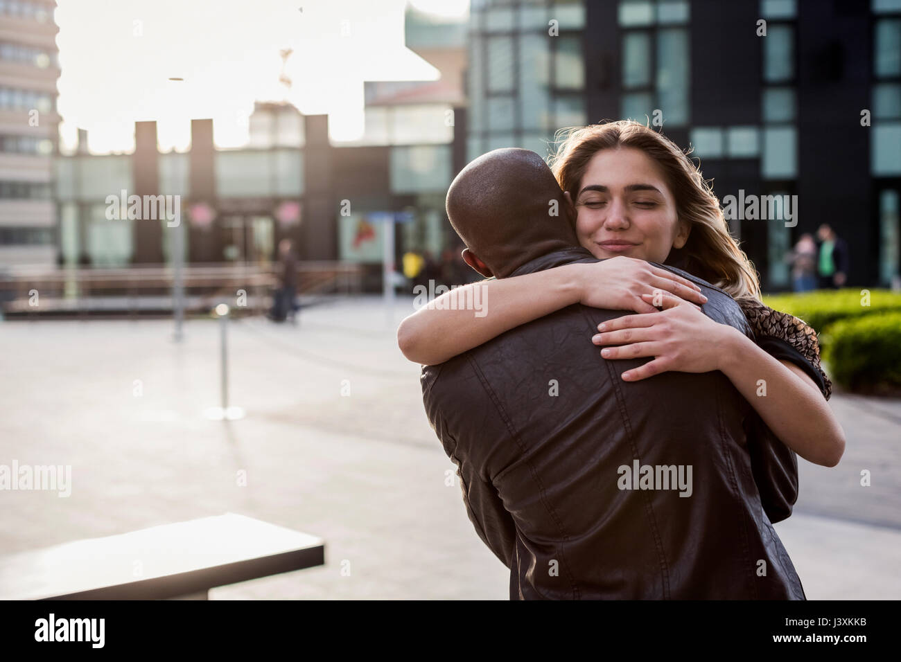
{"type": "Polygon", "coordinates": [[[563,192],[533,151],[494,150],[471,161],[451,182],[447,213],[469,251],[498,278],[578,246],[563,192]]]}

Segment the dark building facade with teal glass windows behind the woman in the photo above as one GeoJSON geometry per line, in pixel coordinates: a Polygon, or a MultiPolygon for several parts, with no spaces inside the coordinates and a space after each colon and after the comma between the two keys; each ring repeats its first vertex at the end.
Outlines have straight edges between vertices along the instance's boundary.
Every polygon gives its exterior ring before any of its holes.
{"type": "Polygon", "coordinates": [[[796,196],[776,219],[730,220],[766,290],[789,286],[787,250],[824,222],[848,241],[852,286],[897,278],[901,1],[482,0],[469,49],[469,159],[647,122],[692,149],[721,201],[796,196]]]}

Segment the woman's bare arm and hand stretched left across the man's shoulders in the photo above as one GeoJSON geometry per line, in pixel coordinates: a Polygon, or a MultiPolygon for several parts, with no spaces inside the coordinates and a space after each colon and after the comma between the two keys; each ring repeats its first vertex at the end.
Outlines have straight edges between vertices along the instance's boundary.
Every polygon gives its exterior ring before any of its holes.
{"type": "Polygon", "coordinates": [[[655,289],[698,304],[706,301],[686,278],[641,259],[618,256],[456,287],[406,317],[397,328],[397,345],[411,361],[434,366],[571,304],[655,311],[642,299],[655,289]],[[481,291],[475,293],[477,287],[481,291]],[[480,302],[481,310],[461,302],[480,302]]]}

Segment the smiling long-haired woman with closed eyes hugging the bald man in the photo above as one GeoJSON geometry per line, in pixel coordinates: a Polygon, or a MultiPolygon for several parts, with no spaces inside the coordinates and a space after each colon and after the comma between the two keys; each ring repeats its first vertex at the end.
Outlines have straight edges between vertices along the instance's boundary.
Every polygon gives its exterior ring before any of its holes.
{"type": "MultiPolygon", "coordinates": [[[[760,304],[756,272],[686,154],[642,124],[611,122],[569,132],[551,168],[573,205],[579,243],[604,261],[466,286],[485,287],[482,300],[491,308],[483,317],[437,301],[424,306],[397,331],[405,357],[441,363],[571,304],[634,311],[640,314],[601,324],[592,338],[605,358],[653,357],[624,380],[721,370],[787,447],[815,464],[838,464],[844,435],[825,402],[831,385],[815,331],[760,304]],[[695,304],[705,298],[696,286],[648,261],[682,268],[732,295],[757,343],[701,313],[695,304]],[[805,361],[807,370],[798,366],[805,361]]],[[[459,291],[442,296],[450,295],[460,298],[459,291]]]]}

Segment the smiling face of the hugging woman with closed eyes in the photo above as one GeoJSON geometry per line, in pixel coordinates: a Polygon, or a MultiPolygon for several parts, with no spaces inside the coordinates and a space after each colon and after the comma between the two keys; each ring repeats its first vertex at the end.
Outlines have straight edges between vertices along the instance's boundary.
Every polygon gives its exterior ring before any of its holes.
{"type": "Polygon", "coordinates": [[[678,222],[660,167],[642,150],[597,152],[573,202],[578,241],[596,258],[625,255],[662,263],[688,238],[688,224],[678,222]]]}

